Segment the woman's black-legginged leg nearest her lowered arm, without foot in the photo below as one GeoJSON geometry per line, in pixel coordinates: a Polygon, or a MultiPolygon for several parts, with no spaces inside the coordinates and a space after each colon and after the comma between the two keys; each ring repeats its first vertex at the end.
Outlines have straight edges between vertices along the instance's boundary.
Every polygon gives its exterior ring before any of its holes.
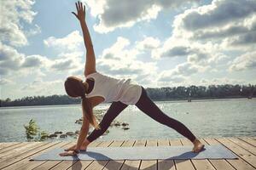
{"type": "Polygon", "coordinates": [[[92,142],[93,140],[97,139],[100,137],[110,126],[111,122],[113,122],[113,119],[119,115],[121,111],[123,111],[128,105],[125,105],[124,103],[118,101],[118,102],[113,102],[107,113],[103,116],[102,122],[99,123],[101,129],[94,129],[90,133],[90,135],[87,137],[87,140],[89,142],[92,142]]]}

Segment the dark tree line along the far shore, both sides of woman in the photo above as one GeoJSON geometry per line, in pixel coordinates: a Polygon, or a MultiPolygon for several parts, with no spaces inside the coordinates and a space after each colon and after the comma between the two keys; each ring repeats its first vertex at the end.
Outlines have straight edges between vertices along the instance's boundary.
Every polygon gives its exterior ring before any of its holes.
{"type": "MultiPolygon", "coordinates": [[[[176,99],[226,99],[256,97],[256,85],[209,85],[189,87],[146,88],[148,96],[153,100],[176,99]]],[[[80,99],[73,99],[67,95],[32,96],[22,99],[0,99],[0,106],[27,105],[71,105],[79,104],[80,99]]]]}

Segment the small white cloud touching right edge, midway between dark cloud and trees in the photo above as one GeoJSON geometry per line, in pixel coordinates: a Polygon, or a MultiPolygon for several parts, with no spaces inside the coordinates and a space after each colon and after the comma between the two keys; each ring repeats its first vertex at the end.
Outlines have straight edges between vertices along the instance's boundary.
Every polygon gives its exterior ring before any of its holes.
{"type": "Polygon", "coordinates": [[[242,54],[236,57],[230,64],[230,71],[245,71],[256,69],[256,52],[242,54]]]}

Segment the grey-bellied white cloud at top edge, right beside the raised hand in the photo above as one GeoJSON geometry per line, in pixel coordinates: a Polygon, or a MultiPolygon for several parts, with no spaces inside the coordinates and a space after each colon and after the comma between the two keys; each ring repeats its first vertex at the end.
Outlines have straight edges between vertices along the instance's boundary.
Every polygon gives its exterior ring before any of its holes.
{"type": "Polygon", "coordinates": [[[143,20],[156,19],[163,9],[178,8],[195,0],[89,0],[84,1],[90,7],[90,14],[97,17],[99,23],[94,29],[101,33],[113,31],[116,28],[130,27],[143,20]]]}

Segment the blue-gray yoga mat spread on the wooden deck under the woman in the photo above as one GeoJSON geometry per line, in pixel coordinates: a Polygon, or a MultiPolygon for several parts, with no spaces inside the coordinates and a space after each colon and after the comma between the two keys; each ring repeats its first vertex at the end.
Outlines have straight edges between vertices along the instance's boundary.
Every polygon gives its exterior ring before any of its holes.
{"type": "Polygon", "coordinates": [[[173,159],[237,159],[222,144],[205,145],[200,153],[192,152],[193,146],[135,146],[88,147],[77,156],[59,156],[63,148],[49,150],[31,160],[173,160],[173,159]]]}

